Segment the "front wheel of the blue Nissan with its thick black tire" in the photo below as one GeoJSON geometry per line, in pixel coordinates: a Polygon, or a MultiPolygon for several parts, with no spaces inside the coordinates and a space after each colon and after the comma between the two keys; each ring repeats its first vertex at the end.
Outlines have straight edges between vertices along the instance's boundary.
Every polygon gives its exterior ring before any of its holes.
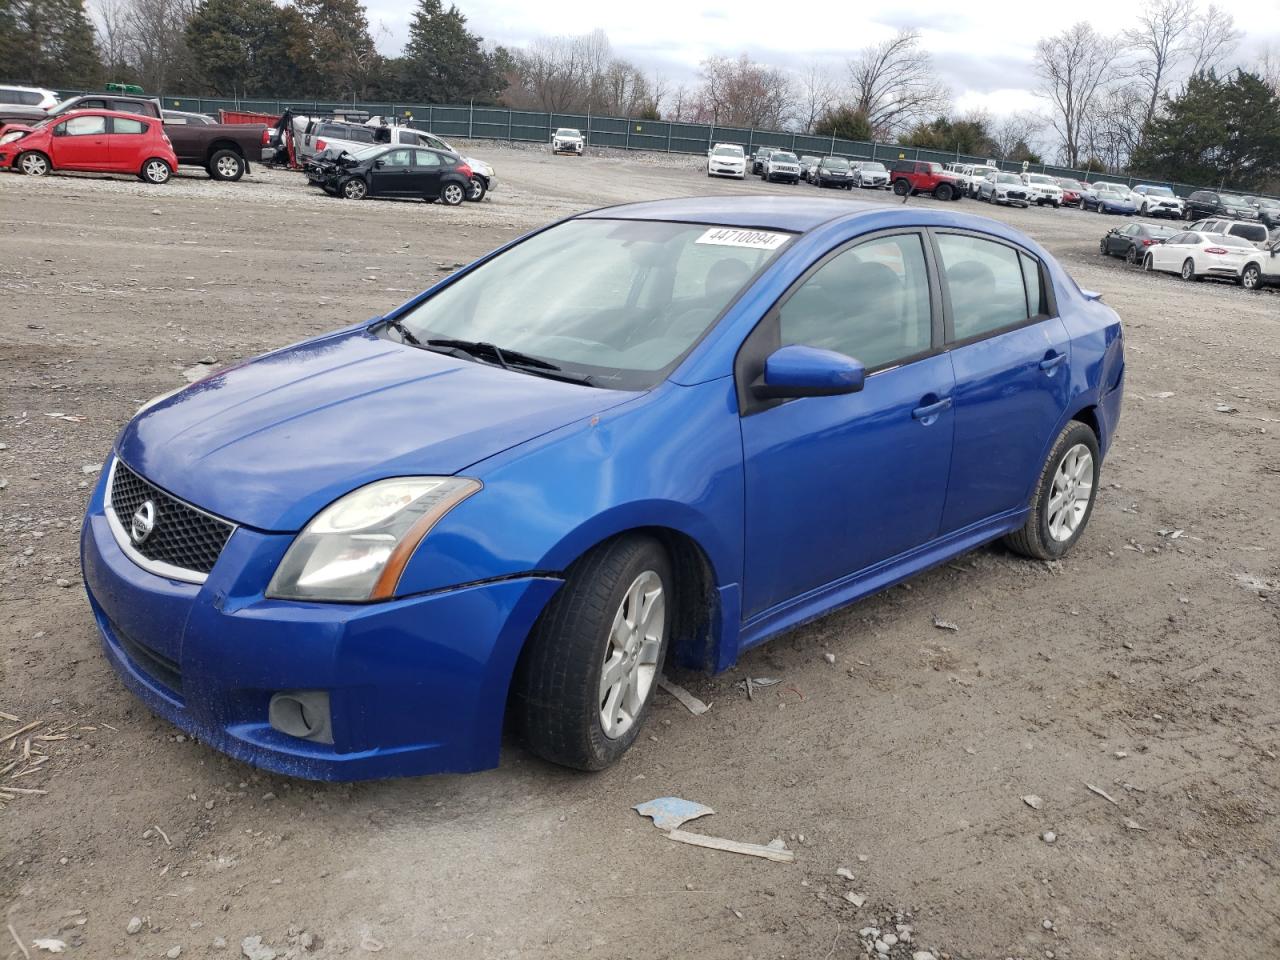
{"type": "Polygon", "coordinates": [[[564,586],[530,631],[512,678],[512,717],[532,753],[581,771],[604,769],[626,753],[644,726],[662,675],[672,584],[667,552],[649,536],[611,540],[570,567],[564,586]],[[660,590],[660,608],[648,593],[654,584],[660,590]],[[637,585],[654,607],[641,603],[631,612],[637,585]],[[650,620],[643,636],[636,636],[639,630],[628,636],[627,617],[639,621],[639,628],[646,609],[657,622],[650,620]],[[654,640],[653,632],[659,630],[654,640]],[[620,646],[620,640],[625,645],[620,646]],[[637,663],[631,644],[639,645],[637,663]],[[635,689],[627,698],[623,682],[620,698],[616,686],[605,687],[605,671],[611,660],[625,669],[628,659],[636,663],[631,671],[635,689]],[[630,713],[620,699],[631,700],[630,713]],[[605,727],[605,716],[612,728],[605,727]]]}

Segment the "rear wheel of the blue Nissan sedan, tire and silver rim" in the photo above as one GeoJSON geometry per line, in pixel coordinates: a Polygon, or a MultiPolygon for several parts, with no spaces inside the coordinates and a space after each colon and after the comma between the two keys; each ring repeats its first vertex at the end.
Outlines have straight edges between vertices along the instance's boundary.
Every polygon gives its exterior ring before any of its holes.
{"type": "Polygon", "coordinates": [[[1064,557],[1093,515],[1101,470],[1098,438],[1087,424],[1073,420],[1044,458],[1027,522],[1005,538],[1009,549],[1041,561],[1064,557]],[[1085,453],[1088,462],[1083,462],[1085,453]]]}

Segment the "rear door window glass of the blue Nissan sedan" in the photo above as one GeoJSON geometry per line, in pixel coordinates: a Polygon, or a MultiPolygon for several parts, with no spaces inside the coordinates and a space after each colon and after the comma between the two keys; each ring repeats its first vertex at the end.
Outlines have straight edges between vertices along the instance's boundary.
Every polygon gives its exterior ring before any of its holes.
{"type": "Polygon", "coordinates": [[[1016,250],[982,237],[942,233],[938,251],[951,293],[954,340],[982,337],[1030,316],[1016,250]]]}

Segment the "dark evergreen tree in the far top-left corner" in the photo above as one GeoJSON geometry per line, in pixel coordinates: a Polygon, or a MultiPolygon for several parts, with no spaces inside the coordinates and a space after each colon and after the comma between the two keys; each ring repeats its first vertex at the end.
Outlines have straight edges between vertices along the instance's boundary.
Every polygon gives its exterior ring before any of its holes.
{"type": "Polygon", "coordinates": [[[0,77],[46,87],[101,83],[84,0],[0,0],[0,77]]]}

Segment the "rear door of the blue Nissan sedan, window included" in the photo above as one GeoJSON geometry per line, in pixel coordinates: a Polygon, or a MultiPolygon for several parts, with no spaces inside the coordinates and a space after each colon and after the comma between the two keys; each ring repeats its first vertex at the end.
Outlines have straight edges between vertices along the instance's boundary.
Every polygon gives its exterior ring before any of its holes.
{"type": "Polygon", "coordinates": [[[932,232],[955,370],[942,534],[1027,506],[1070,392],[1070,338],[1044,265],[965,230],[932,232]]]}

